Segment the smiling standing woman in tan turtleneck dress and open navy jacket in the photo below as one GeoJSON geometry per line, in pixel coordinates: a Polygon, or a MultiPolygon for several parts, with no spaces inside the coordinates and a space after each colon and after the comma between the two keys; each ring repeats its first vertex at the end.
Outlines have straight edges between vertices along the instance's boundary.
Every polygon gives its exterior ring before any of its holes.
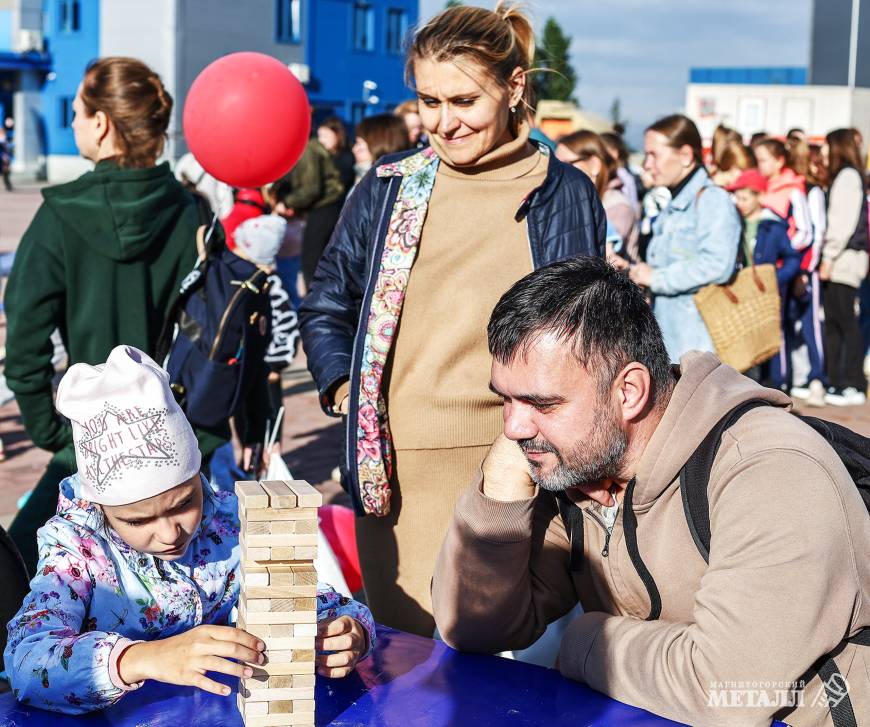
{"type": "Polygon", "coordinates": [[[510,4],[452,7],[417,30],[406,69],[431,146],[365,175],[302,304],[322,405],[347,417],[367,602],[426,636],[454,504],[502,431],[489,315],[532,269],[604,253],[589,178],[529,142],[533,55],[510,4]]]}

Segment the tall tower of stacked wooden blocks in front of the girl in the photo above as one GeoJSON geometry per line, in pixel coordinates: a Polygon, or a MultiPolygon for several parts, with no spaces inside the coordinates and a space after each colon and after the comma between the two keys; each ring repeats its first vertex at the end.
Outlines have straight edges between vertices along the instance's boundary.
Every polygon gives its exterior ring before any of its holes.
{"type": "Polygon", "coordinates": [[[307,482],[237,482],[241,629],[266,644],[266,663],[241,679],[246,727],[314,726],[317,508],[307,482]]]}

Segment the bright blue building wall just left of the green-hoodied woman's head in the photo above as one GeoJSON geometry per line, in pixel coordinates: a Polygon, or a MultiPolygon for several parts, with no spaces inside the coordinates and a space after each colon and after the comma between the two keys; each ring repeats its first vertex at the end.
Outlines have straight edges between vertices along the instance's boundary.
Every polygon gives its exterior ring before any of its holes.
{"type": "Polygon", "coordinates": [[[53,72],[42,91],[48,154],[78,155],[72,101],[88,64],[100,51],[100,0],[43,0],[46,50],[53,72]]]}

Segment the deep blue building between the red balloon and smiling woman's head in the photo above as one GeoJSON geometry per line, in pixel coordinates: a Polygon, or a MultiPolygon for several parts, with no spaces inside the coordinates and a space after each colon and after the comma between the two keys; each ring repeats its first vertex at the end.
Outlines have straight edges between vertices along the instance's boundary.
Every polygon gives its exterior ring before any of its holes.
{"type": "Polygon", "coordinates": [[[335,114],[353,124],[411,98],[404,81],[405,38],[418,0],[309,0],[306,85],[315,122],[335,114]]]}

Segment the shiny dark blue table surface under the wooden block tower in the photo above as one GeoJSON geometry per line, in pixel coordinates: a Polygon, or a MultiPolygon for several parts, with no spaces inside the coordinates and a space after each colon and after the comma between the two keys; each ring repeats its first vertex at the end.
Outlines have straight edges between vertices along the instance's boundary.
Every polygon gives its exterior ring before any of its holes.
{"type": "MultiPolygon", "coordinates": [[[[317,679],[318,727],[660,727],[675,725],[563,678],[553,669],[496,656],[461,654],[440,641],[386,627],[375,653],[345,679],[317,679]]],[[[238,680],[226,677],[227,684],[238,680]]],[[[114,707],[71,717],[0,695],[0,725],[207,725],[243,727],[235,693],[148,682],[114,707]]]]}

